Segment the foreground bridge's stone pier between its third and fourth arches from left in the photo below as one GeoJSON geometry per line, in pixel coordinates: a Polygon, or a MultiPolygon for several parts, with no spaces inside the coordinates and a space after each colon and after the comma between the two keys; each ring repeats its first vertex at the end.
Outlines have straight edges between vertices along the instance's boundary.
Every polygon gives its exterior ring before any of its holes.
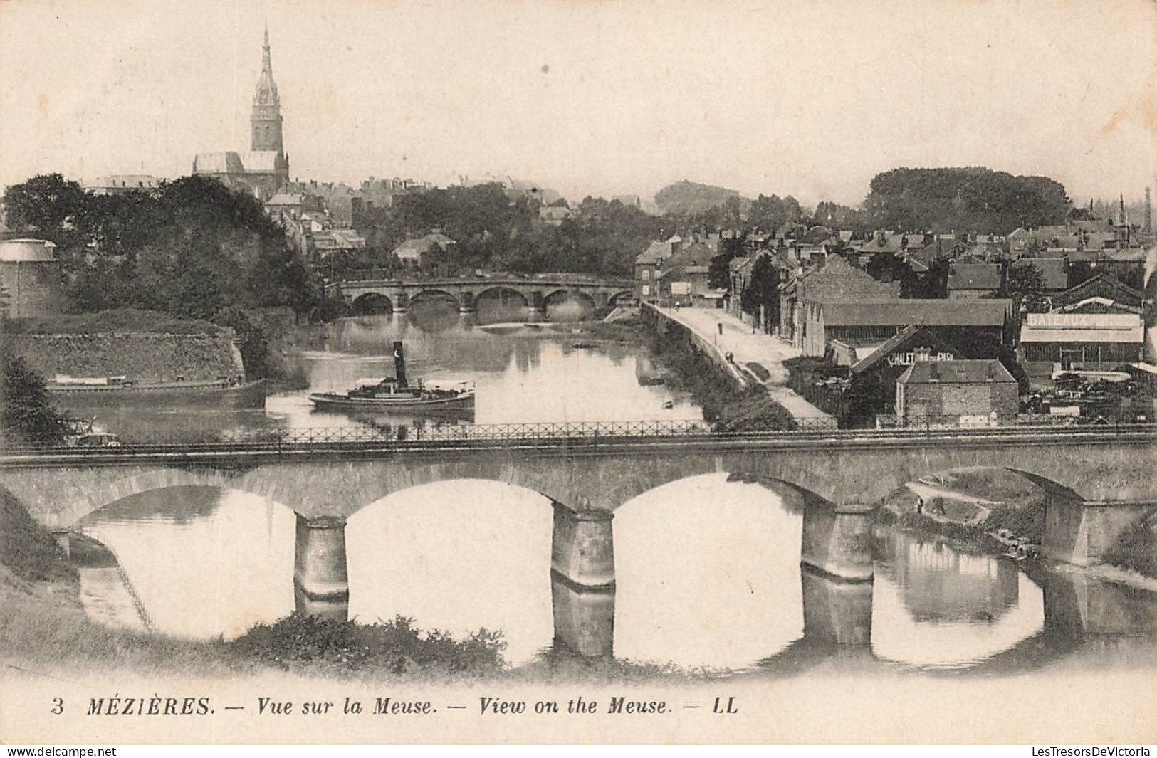
{"type": "Polygon", "coordinates": [[[872,580],[872,523],[876,509],[809,505],[803,514],[799,561],[849,582],[872,580]]]}

